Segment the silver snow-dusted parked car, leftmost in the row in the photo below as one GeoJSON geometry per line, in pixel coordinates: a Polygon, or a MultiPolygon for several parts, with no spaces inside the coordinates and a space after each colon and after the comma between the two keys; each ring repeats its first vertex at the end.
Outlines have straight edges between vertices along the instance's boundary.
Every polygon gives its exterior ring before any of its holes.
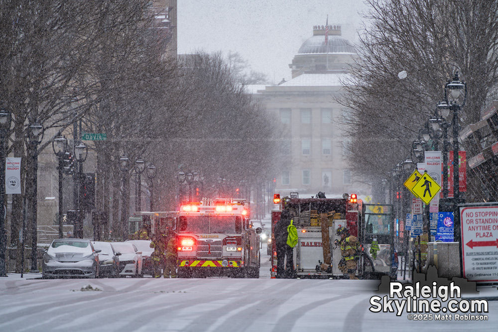
{"type": "Polygon", "coordinates": [[[43,254],[42,278],[97,278],[100,252],[90,240],[55,239],[43,254]]]}

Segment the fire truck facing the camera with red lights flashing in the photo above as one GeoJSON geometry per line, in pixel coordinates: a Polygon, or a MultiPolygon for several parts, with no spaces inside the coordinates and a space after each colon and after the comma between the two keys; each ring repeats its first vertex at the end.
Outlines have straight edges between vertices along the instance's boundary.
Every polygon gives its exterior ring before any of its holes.
{"type": "Polygon", "coordinates": [[[180,207],[178,277],[259,278],[259,233],[243,199],[203,199],[180,207]]]}

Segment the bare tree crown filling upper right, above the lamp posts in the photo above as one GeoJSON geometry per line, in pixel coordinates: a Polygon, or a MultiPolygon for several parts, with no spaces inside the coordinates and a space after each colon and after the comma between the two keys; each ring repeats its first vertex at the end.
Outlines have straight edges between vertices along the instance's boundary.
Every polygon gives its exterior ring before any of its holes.
{"type": "Polygon", "coordinates": [[[463,124],[477,122],[498,83],[498,1],[369,0],[360,58],[340,100],[354,110],[345,121],[350,158],[367,178],[387,177],[410,155],[418,130],[459,71],[469,87],[463,124]],[[407,72],[405,79],[397,74],[407,72]],[[388,161],[388,162],[386,162],[388,161]]]}

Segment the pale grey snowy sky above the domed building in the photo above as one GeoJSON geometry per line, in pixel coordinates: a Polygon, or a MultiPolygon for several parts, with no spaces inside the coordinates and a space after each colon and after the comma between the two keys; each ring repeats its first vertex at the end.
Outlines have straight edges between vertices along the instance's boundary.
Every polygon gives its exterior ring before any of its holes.
{"type": "Polygon", "coordinates": [[[289,64],[313,25],[339,24],[357,41],[363,0],[178,0],[178,53],[235,51],[272,82],[289,80],[289,64]]]}

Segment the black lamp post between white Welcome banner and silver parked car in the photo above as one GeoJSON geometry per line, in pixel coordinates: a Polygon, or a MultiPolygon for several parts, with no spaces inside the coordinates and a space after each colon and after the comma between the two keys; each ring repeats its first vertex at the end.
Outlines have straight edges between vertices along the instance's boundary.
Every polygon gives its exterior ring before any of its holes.
{"type": "Polygon", "coordinates": [[[38,272],[37,252],[38,247],[38,231],[37,231],[37,211],[38,211],[38,144],[43,139],[43,126],[34,123],[29,126],[28,146],[31,149],[31,157],[33,158],[33,179],[31,183],[31,272],[38,272]],[[40,135],[41,134],[41,135],[40,135]]]}

